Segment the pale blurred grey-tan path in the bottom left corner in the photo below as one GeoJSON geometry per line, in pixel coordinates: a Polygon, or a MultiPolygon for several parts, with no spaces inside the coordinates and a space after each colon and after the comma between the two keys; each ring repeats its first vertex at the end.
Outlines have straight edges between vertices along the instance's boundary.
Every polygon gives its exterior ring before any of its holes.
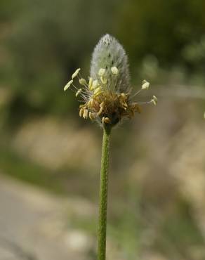
{"type": "Polygon", "coordinates": [[[69,205],[0,174],[0,260],[87,260],[86,235],[68,232],[69,205]]]}

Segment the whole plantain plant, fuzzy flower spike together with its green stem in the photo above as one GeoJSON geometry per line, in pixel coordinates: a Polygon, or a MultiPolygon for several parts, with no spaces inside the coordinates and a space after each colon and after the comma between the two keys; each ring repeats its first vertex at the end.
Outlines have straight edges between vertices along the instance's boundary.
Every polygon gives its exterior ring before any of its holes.
{"type": "Polygon", "coordinates": [[[110,134],[124,118],[131,118],[135,112],[140,113],[140,105],[152,103],[157,105],[153,96],[148,102],[135,102],[133,98],[140,91],[149,88],[150,83],[143,81],[142,87],[132,93],[128,58],[124,48],[117,39],[106,34],[93,51],[91,75],[88,80],[81,77],[80,68],[72,74],[72,79],[64,87],[71,89],[81,98],[79,116],[95,120],[102,126],[102,159],[100,171],[100,210],[98,223],[98,260],[105,260],[107,227],[107,182],[110,152],[110,134]],[[79,87],[74,83],[77,79],[79,87]]]}

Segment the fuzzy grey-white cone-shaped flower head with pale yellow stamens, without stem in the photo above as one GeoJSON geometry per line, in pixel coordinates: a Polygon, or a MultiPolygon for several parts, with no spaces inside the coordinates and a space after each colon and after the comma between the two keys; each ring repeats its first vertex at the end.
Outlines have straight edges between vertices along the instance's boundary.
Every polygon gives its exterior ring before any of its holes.
{"type": "MultiPolygon", "coordinates": [[[[72,80],[64,90],[70,88],[81,98],[79,116],[84,119],[97,120],[102,125],[114,126],[123,118],[131,118],[135,112],[140,113],[140,104],[133,102],[134,96],[148,89],[149,82],[143,81],[142,88],[131,96],[128,61],[124,48],[119,42],[106,34],[95,47],[91,61],[91,77],[88,81],[81,77],[80,69],[72,74],[72,80]],[[74,85],[78,77],[81,88],[74,85]]],[[[146,103],[157,104],[157,98],[146,103]]]]}

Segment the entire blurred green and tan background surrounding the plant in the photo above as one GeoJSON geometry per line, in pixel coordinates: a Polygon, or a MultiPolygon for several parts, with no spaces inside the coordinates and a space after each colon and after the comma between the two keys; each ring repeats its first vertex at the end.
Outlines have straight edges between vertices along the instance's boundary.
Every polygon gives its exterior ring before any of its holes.
{"type": "Polygon", "coordinates": [[[0,1],[0,259],[94,260],[102,131],[63,86],[110,33],[157,107],[113,131],[107,260],[205,259],[205,1],[0,1]]]}

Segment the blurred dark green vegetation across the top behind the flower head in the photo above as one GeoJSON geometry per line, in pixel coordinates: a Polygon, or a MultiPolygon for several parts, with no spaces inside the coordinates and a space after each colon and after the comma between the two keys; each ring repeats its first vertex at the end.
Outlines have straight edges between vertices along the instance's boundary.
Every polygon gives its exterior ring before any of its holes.
{"type": "Polygon", "coordinates": [[[72,112],[74,99],[62,95],[62,86],[76,67],[87,74],[106,32],[126,46],[134,79],[148,73],[160,82],[156,66],[204,76],[204,8],[203,0],[2,0],[1,88],[12,91],[6,119],[72,112]]]}

